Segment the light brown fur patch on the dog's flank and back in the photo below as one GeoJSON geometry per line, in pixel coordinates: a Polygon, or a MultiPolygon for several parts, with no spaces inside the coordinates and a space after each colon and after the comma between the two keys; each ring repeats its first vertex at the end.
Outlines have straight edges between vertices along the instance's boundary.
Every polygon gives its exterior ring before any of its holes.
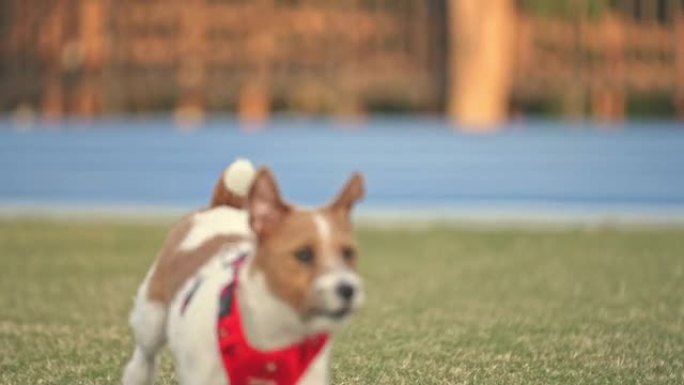
{"type": "Polygon", "coordinates": [[[148,284],[150,300],[168,304],[183,283],[216,253],[248,239],[242,235],[217,235],[195,249],[181,250],[180,244],[192,228],[192,221],[192,215],[183,218],[169,233],[148,284]]]}

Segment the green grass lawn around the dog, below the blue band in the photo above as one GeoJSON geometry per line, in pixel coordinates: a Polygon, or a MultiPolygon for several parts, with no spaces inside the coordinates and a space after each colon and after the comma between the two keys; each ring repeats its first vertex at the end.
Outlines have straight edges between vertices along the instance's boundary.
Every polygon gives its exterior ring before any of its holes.
{"type": "MultiPolygon", "coordinates": [[[[167,226],[0,220],[0,384],[116,384],[167,226]]],[[[684,230],[359,232],[335,384],[684,383],[684,230]]],[[[158,384],[175,383],[163,357],[158,384]]]]}

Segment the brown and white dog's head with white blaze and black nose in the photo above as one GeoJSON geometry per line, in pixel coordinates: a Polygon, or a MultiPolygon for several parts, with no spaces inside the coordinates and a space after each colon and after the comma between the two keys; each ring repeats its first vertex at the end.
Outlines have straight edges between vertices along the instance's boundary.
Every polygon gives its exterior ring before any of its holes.
{"type": "Polygon", "coordinates": [[[364,302],[351,224],[351,210],[363,195],[357,173],[329,204],[298,208],[282,199],[273,174],[261,168],[247,196],[258,242],[254,269],[314,331],[335,329],[364,302]]]}

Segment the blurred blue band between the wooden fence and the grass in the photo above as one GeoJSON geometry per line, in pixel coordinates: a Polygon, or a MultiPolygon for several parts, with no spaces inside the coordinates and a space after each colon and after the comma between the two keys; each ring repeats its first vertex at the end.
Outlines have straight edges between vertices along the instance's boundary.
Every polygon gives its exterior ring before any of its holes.
{"type": "Polygon", "coordinates": [[[361,170],[370,210],[684,208],[681,124],[538,122],[469,135],[439,119],[277,119],[252,133],[232,119],[194,132],[161,118],[28,131],[6,120],[0,204],[200,206],[238,156],[271,166],[285,195],[305,204],[327,200],[361,170]]]}

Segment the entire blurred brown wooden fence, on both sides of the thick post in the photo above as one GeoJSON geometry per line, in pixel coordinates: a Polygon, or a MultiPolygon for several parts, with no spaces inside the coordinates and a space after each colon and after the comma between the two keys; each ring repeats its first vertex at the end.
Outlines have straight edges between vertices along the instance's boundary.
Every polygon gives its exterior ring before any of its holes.
{"type": "MultiPolygon", "coordinates": [[[[273,110],[438,112],[462,86],[468,50],[453,49],[447,17],[461,1],[7,0],[0,110],[245,119],[273,110]]],[[[631,96],[664,95],[684,116],[682,7],[661,3],[672,6],[651,19],[620,7],[576,17],[509,7],[513,60],[501,87],[512,113],[556,100],[567,116],[621,119],[631,96]]]]}

